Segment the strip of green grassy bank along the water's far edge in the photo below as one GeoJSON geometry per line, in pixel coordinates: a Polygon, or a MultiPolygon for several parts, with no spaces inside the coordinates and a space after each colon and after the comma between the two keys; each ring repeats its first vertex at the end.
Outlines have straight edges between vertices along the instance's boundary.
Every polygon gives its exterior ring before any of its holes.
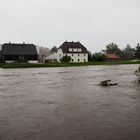
{"type": "Polygon", "coordinates": [[[29,63],[0,63],[1,68],[41,68],[41,67],[75,67],[91,65],[122,65],[140,64],[139,61],[119,61],[119,62],[88,62],[88,63],[61,63],[61,64],[29,64],[29,63]]]}

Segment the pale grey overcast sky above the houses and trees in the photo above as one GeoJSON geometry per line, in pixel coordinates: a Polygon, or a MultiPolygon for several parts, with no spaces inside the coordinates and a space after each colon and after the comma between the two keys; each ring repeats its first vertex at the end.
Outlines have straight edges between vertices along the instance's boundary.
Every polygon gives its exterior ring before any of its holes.
{"type": "Polygon", "coordinates": [[[51,48],[80,41],[95,52],[140,42],[140,0],[0,0],[0,43],[51,48]]]}

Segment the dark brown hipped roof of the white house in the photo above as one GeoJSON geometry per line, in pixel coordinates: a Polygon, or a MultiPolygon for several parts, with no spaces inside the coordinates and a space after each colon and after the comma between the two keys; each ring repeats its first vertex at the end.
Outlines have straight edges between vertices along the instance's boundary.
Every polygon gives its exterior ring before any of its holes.
{"type": "Polygon", "coordinates": [[[78,52],[78,53],[88,53],[87,49],[80,42],[67,42],[66,41],[59,48],[62,49],[63,53],[72,53],[72,52],[69,52],[69,48],[80,48],[82,49],[82,52],[78,52]]]}

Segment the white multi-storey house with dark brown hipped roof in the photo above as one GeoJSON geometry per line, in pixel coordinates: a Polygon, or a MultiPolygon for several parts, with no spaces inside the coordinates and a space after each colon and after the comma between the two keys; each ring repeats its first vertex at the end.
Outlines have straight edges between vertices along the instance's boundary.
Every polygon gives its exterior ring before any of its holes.
{"type": "Polygon", "coordinates": [[[57,62],[60,63],[63,56],[70,56],[71,63],[88,62],[88,51],[80,42],[64,42],[57,51],[57,62]]]}

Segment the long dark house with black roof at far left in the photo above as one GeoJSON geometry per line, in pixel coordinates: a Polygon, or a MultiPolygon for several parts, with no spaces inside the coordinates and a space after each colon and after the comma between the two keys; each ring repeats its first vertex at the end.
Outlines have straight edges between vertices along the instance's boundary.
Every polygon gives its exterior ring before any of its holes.
{"type": "Polygon", "coordinates": [[[5,61],[38,60],[38,53],[34,44],[5,43],[2,45],[1,54],[5,61]]]}

